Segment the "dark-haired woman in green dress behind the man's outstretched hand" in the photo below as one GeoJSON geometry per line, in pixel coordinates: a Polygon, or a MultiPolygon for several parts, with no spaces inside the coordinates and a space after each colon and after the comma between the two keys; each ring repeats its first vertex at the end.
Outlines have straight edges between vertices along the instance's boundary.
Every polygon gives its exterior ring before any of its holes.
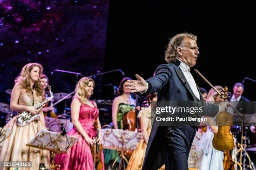
{"type": "MultiPolygon", "coordinates": [[[[131,96],[131,90],[128,88],[127,80],[132,80],[130,77],[124,77],[118,87],[117,97],[112,104],[112,121],[115,129],[123,129],[123,115],[131,110],[135,110],[136,100],[131,96]]],[[[116,150],[104,149],[105,167],[112,166],[112,163],[119,157],[116,150]]],[[[119,162],[119,161],[118,161],[119,162]]],[[[107,168],[106,168],[107,169],[107,168]]]]}

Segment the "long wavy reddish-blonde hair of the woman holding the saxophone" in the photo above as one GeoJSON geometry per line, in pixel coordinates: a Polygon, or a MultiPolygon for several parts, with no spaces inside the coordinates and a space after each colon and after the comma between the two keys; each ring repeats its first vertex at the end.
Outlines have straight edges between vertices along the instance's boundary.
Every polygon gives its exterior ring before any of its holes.
{"type": "MultiPolygon", "coordinates": [[[[37,62],[34,63],[28,63],[26,64],[22,69],[18,77],[15,79],[15,83],[19,83],[21,88],[25,89],[26,92],[31,92],[31,84],[30,84],[30,72],[34,67],[39,68],[39,77],[43,73],[44,69],[43,66],[37,62]]],[[[36,90],[36,94],[38,96],[43,95],[43,89],[40,84],[40,78],[38,77],[38,80],[33,84],[33,89],[36,90]]]]}

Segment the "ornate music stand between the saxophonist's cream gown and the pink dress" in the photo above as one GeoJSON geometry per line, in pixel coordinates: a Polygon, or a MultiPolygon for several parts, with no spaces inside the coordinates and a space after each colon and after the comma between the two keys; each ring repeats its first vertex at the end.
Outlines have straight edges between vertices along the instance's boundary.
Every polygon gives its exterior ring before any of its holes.
{"type": "Polygon", "coordinates": [[[29,147],[40,148],[51,151],[51,164],[49,168],[59,170],[60,165],[54,164],[56,153],[67,153],[69,149],[78,141],[73,136],[61,135],[61,133],[51,132],[47,129],[41,129],[36,133],[36,137],[26,144],[29,147]]]}

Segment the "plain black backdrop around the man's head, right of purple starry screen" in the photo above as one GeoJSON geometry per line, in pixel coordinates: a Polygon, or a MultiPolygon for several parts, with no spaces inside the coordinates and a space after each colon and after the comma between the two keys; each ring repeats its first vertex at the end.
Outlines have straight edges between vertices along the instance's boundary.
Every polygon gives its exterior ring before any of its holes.
{"type": "MultiPolygon", "coordinates": [[[[256,79],[255,16],[255,3],[245,1],[110,1],[104,69],[122,68],[132,78],[136,73],[149,78],[165,63],[169,38],[190,32],[197,35],[200,51],[192,68],[212,85],[233,92],[233,85],[244,77],[256,79]]],[[[191,73],[199,87],[210,90],[191,73]]],[[[249,100],[256,100],[255,85],[244,82],[243,95],[249,100]]]]}

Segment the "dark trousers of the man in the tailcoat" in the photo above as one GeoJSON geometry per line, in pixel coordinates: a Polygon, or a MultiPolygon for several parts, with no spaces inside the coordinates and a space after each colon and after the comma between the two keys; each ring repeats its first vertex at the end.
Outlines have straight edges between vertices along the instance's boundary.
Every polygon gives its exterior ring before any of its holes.
{"type": "Polygon", "coordinates": [[[197,129],[196,126],[159,127],[165,170],[188,170],[187,160],[197,129]]]}

